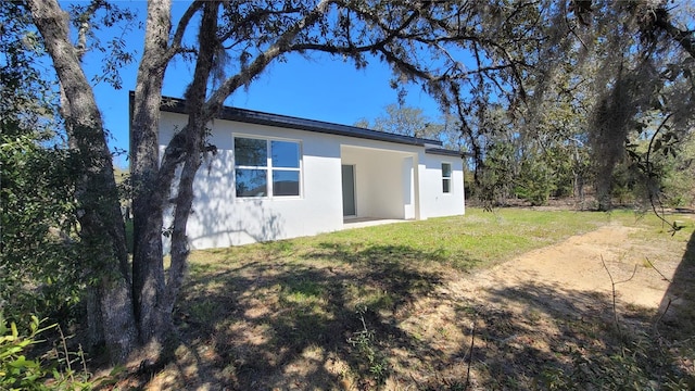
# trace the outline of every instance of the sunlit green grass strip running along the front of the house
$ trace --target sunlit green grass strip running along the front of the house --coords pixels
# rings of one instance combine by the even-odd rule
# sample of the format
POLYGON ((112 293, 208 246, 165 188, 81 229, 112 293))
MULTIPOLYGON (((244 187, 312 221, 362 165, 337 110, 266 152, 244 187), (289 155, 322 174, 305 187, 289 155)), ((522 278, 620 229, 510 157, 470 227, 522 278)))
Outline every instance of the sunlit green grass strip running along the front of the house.
MULTIPOLYGON (((286 262, 307 260, 338 263, 380 261, 443 264, 459 270, 486 267, 553 244, 573 235, 591 231, 611 222, 658 226, 652 215, 629 211, 536 212, 504 209, 484 212, 468 209, 465 216, 431 218, 315 237, 281 240, 223 250, 200 251, 192 263, 216 264, 282 257, 286 262)), ((215 267, 215 266, 210 266, 215 267)))

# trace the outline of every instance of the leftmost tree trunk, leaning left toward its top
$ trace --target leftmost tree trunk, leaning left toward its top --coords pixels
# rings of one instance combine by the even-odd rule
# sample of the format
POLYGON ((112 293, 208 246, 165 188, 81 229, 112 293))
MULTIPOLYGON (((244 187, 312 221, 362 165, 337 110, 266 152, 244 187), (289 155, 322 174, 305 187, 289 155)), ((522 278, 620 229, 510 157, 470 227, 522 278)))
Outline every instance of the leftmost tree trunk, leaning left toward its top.
POLYGON ((137 343, 125 226, 101 113, 68 38, 68 16, 55 0, 26 0, 63 93, 62 112, 78 172, 80 244, 90 283, 92 342, 123 362, 137 343))

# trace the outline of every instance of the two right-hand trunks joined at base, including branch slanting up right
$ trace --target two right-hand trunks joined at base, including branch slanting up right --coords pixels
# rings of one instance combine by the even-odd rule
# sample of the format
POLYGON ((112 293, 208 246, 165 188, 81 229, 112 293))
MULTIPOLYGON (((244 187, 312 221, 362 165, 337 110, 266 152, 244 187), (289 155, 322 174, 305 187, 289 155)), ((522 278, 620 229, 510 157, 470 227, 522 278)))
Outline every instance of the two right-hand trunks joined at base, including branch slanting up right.
POLYGON ((222 108, 225 99, 237 88, 248 85, 275 59, 282 55, 292 39, 306 26, 314 24, 328 8, 327 1, 319 2, 302 21, 286 31, 262 55, 258 55, 241 73, 225 80, 205 101, 205 88, 212 58, 217 50, 224 50, 215 37, 213 26, 219 2, 194 2, 181 21, 190 21, 198 8, 205 5, 205 26, 208 31, 201 31, 199 36, 199 53, 197 64, 197 80, 190 86, 188 98, 188 125, 178 131, 169 141, 161 162, 157 156, 159 110, 161 98, 161 75, 166 63, 176 49, 176 40, 180 39, 182 26, 178 24, 172 47, 166 48, 165 38, 168 36, 169 1, 150 2, 148 8, 148 33, 143 62, 138 73, 138 87, 135 93, 131 164, 135 168, 134 217, 136 229, 134 254, 134 297, 136 299, 136 314, 143 342, 161 340, 172 328, 172 311, 178 290, 184 280, 186 258, 188 256, 188 241, 186 223, 191 210, 193 198, 192 181, 200 167, 205 124, 222 108), (161 5, 160 4, 164 4, 161 5), (214 11, 214 12, 213 12, 214 11), (190 12, 190 13, 189 13, 190 12), (188 20, 186 18, 188 17, 188 20), (214 21, 213 21, 214 20, 214 21), (151 23, 164 24, 166 28, 151 28, 151 23), (213 26, 213 27, 211 27, 213 26), (202 37, 202 38, 201 38, 202 37), (167 55, 169 55, 167 58, 167 55), (150 65, 144 62, 152 61, 150 65), (210 63, 207 63, 210 62, 210 63), (198 67, 200 65, 200 67, 198 67), (154 80, 152 80, 154 78, 154 80), (156 81, 156 83, 155 83, 156 81), (155 85, 156 84, 156 85, 155 85), (156 91, 156 92, 155 92, 156 91), (159 163, 159 165, 157 165, 159 163), (175 169, 182 165, 182 172, 176 184, 174 229, 172 236, 172 267, 166 280, 162 267, 162 215, 166 202, 169 201, 169 190, 175 181, 175 169), (154 174, 155 173, 155 174, 154 174))

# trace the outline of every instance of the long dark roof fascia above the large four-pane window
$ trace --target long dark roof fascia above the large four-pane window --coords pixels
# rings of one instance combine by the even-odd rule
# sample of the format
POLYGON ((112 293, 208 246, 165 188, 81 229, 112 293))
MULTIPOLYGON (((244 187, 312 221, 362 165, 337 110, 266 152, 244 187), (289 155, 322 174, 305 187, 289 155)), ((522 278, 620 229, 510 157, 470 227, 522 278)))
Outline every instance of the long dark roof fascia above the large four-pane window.
MULTIPOLYGON (((162 111, 186 114, 186 101, 178 98, 162 97, 162 111)), ((288 115, 270 114, 247 109, 224 106, 216 116, 218 119, 241 122, 247 124, 279 126, 285 128, 315 131, 328 135, 363 138, 368 140, 396 142, 409 146, 425 147, 425 144, 441 146, 439 140, 388 134, 365 129, 356 126, 332 124, 323 121, 299 118, 288 115)))

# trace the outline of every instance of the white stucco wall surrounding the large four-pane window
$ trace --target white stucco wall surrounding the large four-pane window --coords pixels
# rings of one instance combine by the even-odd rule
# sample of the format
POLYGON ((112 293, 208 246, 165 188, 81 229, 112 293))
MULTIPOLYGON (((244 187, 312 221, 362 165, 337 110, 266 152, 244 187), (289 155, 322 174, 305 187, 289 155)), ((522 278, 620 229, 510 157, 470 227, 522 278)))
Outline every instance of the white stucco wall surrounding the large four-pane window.
MULTIPOLYGON (((165 113, 160 144, 165 146, 185 116, 165 113)), ((188 234, 194 249, 247 244, 342 229, 340 146, 328 135, 267 126, 216 121, 208 156, 195 177, 193 214, 188 234), (300 197, 237 198, 232 139, 256 136, 299 141, 301 144, 300 197)), ((164 147, 162 147, 163 149, 164 147)))

